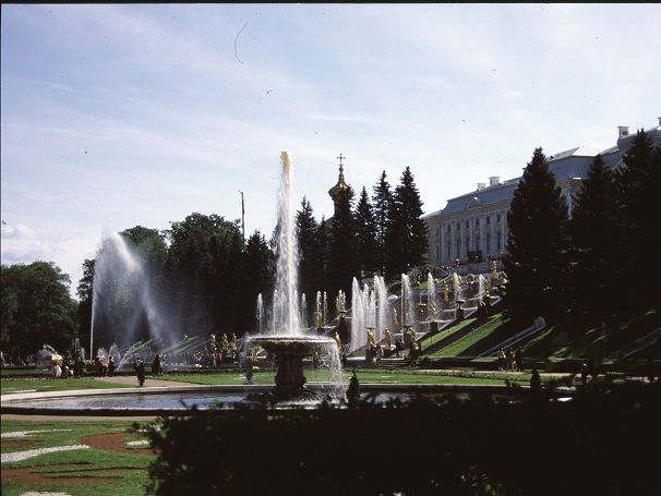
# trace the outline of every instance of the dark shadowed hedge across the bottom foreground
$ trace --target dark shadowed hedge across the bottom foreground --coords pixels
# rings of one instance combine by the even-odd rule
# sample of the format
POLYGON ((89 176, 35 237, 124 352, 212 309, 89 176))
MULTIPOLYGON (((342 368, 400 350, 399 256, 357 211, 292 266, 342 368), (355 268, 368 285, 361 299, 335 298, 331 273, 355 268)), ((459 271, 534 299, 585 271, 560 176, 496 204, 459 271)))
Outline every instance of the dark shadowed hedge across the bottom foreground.
MULTIPOLYGON (((152 493, 659 494, 661 385, 163 420, 152 493), (519 396, 520 397, 520 396, 519 396)), ((520 391, 519 392, 528 392, 520 391)))

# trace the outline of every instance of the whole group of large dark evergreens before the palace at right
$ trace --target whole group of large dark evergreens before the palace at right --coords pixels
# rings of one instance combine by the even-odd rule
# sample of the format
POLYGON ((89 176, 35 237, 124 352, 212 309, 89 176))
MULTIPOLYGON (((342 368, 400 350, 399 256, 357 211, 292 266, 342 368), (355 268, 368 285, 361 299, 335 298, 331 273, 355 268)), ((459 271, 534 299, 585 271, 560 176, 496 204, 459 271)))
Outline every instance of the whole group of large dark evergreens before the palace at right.
POLYGON ((661 311, 656 255, 661 245, 661 148, 638 131, 621 167, 594 157, 567 210, 541 148, 514 192, 504 269, 506 314, 521 322, 608 322, 661 311))

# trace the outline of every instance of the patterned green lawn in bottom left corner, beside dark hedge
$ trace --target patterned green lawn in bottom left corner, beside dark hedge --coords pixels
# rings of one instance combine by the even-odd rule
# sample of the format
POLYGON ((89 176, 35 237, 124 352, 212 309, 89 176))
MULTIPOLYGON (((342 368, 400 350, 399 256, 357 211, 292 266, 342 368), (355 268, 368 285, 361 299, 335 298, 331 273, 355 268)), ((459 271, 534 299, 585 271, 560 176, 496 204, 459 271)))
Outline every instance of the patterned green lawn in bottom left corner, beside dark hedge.
MULTIPOLYGON (((2 452, 83 444, 82 440, 86 436, 122 432, 127 433, 128 438, 146 439, 142 434, 129 434, 131 425, 130 421, 3 420, 2 433, 56 428, 62 432, 37 433, 22 438, 29 439, 28 443, 14 446, 5 438, 2 452)), ((145 422, 143 426, 146 425, 145 422)), ((153 455, 144 452, 115 452, 89 448, 3 463, 2 495, 20 496, 29 491, 67 493, 72 496, 142 495, 145 494, 144 487, 148 482, 147 465, 153 459, 153 455), (39 483, 11 482, 12 469, 15 468, 43 473, 44 480, 39 483)))

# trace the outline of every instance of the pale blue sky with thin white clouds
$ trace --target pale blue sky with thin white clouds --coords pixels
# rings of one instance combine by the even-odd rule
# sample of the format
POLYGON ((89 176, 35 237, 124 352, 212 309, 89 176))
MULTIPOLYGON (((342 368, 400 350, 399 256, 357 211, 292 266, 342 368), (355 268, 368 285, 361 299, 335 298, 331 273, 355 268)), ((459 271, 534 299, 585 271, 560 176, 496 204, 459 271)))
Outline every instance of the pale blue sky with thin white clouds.
POLYGON ((658 125, 661 4, 1 7, 1 261, 82 277, 105 233, 197 211, 271 237, 410 167, 425 214, 536 147, 658 125))

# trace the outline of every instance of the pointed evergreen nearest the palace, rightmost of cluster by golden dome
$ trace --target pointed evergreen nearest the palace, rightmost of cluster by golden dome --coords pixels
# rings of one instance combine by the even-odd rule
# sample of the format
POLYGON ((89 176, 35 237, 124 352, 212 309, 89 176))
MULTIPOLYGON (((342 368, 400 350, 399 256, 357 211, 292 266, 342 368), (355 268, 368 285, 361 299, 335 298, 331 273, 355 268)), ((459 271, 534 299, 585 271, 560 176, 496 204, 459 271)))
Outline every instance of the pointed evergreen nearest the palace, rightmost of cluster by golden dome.
POLYGON ((386 273, 394 277, 421 265, 428 250, 428 231, 422 220, 422 201, 413 174, 407 167, 395 187, 386 231, 386 273))

